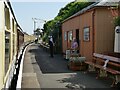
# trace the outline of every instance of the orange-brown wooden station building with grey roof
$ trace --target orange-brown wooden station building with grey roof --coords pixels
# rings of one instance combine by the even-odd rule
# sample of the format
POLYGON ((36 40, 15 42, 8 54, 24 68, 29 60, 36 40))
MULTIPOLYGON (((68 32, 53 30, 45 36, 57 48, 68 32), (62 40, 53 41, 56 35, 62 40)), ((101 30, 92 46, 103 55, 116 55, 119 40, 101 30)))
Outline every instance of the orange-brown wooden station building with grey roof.
POLYGON ((93 53, 113 52, 115 17, 111 7, 114 7, 113 3, 94 3, 64 20, 62 52, 70 49, 73 38, 77 39, 79 53, 87 60, 92 59, 93 53))

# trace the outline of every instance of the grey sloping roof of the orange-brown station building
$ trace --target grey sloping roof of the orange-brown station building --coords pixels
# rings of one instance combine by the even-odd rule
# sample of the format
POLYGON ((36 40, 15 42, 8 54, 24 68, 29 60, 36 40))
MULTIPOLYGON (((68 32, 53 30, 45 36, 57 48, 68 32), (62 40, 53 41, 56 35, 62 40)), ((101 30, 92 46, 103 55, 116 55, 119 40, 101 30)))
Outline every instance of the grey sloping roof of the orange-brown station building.
MULTIPOLYGON (((107 0, 106 0, 106 1, 107 1, 107 0)), ((120 0, 118 0, 118 1, 120 1, 120 0)), ((117 5, 118 5, 118 2, 115 2, 114 0, 113 0, 113 2, 112 2, 112 0, 111 0, 111 2, 105 2, 104 0, 102 0, 101 2, 95 2, 95 3, 91 4, 91 5, 83 8, 82 10, 78 11, 78 12, 75 13, 74 15, 68 17, 68 18, 65 19, 63 22, 65 22, 65 21, 67 21, 67 20, 69 20, 69 19, 71 19, 71 18, 73 18, 73 17, 76 17, 76 16, 78 16, 78 15, 80 15, 80 14, 82 14, 82 13, 84 13, 84 12, 86 12, 86 11, 94 8, 94 7, 108 7, 108 6, 117 6, 117 5)), ((62 23, 63 23, 63 22, 62 22, 62 23)))

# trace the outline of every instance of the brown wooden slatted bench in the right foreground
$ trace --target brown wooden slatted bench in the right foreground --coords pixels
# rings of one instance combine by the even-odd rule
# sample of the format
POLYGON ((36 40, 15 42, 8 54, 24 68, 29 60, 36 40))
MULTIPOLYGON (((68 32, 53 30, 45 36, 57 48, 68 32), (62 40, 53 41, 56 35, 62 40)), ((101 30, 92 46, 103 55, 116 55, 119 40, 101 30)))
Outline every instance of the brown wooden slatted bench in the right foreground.
POLYGON ((85 61, 85 63, 88 64, 89 71, 97 71, 96 78, 113 78, 111 86, 120 82, 120 58, 94 53, 93 59, 91 61, 85 61))

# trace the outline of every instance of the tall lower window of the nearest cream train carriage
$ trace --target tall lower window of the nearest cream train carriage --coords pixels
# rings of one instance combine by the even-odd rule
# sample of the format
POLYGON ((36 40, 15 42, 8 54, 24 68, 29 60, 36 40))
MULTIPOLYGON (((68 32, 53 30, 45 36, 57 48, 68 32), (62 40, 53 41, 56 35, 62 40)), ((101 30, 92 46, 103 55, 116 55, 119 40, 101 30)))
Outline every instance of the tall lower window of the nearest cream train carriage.
POLYGON ((7 73, 9 63, 10 63, 10 33, 5 31, 5 73, 7 73))

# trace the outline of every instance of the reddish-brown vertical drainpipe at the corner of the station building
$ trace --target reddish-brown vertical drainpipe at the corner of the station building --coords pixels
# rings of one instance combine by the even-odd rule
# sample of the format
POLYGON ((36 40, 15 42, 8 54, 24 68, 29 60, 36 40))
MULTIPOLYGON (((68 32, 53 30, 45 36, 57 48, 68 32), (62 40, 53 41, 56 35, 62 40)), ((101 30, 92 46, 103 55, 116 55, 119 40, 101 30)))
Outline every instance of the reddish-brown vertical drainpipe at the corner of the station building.
POLYGON ((92 53, 94 53, 95 52, 95 25, 94 25, 94 23, 95 23, 95 9, 93 10, 93 12, 92 12, 92 29, 93 29, 93 31, 92 31, 92 53))

